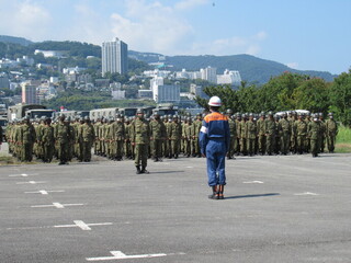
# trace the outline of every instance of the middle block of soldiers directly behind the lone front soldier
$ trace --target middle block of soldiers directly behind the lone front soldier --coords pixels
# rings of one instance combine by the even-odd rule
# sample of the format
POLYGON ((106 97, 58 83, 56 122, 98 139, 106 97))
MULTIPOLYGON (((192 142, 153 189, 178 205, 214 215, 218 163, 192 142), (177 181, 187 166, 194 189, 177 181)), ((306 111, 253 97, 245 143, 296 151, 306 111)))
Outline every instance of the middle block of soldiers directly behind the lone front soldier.
MULTIPOLYGON (((148 156, 155 161, 162 158, 201 157, 199 132, 202 126, 202 115, 193 121, 180 116, 160 116, 158 113, 148 121, 150 135, 148 138, 148 156)), ((123 157, 134 159, 135 137, 134 119, 117 115, 114 118, 98 119, 94 124, 94 153, 121 161, 123 157)))

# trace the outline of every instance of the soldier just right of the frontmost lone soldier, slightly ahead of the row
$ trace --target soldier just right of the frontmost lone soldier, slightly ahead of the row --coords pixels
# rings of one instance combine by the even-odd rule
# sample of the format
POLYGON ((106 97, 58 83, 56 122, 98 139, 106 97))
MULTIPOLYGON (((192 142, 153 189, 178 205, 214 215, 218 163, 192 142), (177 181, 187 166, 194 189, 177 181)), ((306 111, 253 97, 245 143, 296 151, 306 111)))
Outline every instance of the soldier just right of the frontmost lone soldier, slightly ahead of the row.
POLYGON ((166 126, 160 119, 158 113, 154 114, 154 119, 150 122, 150 144, 152 145, 152 158, 154 161, 161 161, 162 158, 162 145, 166 138, 166 126))

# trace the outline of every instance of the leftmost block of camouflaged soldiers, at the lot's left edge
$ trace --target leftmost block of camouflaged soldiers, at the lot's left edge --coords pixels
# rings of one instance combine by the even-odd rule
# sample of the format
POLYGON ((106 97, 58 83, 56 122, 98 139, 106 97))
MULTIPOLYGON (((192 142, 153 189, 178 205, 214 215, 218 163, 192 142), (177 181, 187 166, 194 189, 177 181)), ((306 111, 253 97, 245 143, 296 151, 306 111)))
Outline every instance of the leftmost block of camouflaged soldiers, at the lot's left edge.
POLYGON ((49 117, 31 122, 26 116, 10 123, 5 133, 9 152, 20 161, 32 161, 33 155, 43 162, 50 162, 56 157, 59 164, 66 164, 72 158, 91 160, 94 129, 89 117, 70 123, 61 115, 52 124, 49 117))

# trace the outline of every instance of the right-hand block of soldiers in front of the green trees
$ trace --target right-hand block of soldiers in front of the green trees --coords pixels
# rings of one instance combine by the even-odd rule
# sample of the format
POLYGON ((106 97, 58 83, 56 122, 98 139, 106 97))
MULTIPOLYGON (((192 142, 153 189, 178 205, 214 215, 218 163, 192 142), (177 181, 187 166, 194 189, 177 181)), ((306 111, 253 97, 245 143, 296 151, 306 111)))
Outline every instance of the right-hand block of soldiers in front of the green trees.
POLYGON ((259 118, 250 114, 235 114, 227 111, 230 127, 230 149, 234 155, 287 155, 307 153, 317 157, 327 144, 333 152, 338 126, 333 114, 324 121, 322 114, 283 113, 281 116, 262 112, 259 118))

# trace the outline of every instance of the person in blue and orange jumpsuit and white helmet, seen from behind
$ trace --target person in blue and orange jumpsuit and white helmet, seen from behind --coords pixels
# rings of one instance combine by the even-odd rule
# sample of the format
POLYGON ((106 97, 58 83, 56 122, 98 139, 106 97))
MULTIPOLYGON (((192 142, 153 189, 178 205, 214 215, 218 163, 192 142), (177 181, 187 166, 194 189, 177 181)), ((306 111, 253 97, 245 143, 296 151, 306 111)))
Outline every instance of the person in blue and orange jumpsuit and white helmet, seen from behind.
POLYGON ((218 112, 222 101, 213 96, 208 102, 211 114, 206 115, 200 130, 200 147, 207 160, 208 185, 213 194, 211 199, 224 199, 226 185, 225 160, 230 144, 228 117, 218 112))

